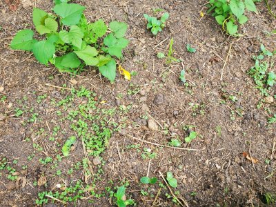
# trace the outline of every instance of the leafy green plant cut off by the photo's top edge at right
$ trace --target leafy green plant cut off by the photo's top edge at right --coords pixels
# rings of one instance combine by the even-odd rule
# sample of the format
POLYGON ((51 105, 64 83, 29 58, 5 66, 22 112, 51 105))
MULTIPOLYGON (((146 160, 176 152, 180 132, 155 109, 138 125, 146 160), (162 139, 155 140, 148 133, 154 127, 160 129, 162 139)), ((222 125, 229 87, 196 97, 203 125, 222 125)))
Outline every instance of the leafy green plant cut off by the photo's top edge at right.
POLYGON ((217 23, 230 35, 237 34, 238 25, 246 23, 246 10, 257 13, 255 0, 210 0, 208 12, 213 12, 217 23))

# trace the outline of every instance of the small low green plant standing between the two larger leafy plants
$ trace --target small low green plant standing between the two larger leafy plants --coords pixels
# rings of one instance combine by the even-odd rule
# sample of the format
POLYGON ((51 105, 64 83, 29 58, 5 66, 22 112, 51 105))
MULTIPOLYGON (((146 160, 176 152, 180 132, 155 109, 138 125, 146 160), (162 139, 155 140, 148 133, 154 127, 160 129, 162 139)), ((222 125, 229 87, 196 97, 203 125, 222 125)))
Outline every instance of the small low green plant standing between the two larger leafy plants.
POLYGON ((144 14, 144 17, 148 21, 147 28, 150 29, 152 34, 156 35, 158 32, 161 32, 162 29, 166 26, 165 23, 168 17, 170 17, 170 14, 166 12, 160 19, 157 19, 156 17, 150 17, 148 16, 148 14, 144 14))

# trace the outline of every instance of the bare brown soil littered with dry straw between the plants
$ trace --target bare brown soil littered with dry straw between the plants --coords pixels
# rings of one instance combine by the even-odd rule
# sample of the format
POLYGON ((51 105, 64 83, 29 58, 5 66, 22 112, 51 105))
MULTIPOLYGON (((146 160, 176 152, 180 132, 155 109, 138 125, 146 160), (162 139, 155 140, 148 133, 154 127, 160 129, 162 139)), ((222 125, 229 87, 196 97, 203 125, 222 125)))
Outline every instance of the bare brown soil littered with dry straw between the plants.
MULTIPOLYGON (((50 12, 51 1, 35 2, 38 8, 50 12)), ((276 130, 275 124, 268 126, 266 123, 267 112, 256 108, 262 96, 254 88, 253 80, 246 75, 246 70, 254 64, 251 57, 257 54, 261 43, 264 43, 269 50, 276 48, 275 36, 266 37, 264 33, 276 28, 276 21, 266 11, 264 3, 258 3, 259 14, 248 14, 248 23, 241 27, 241 31, 246 35, 233 38, 227 37, 209 15, 200 17, 199 12, 206 10, 205 0, 79 2, 86 6, 86 15, 90 21, 103 18, 106 22, 117 19, 128 23, 127 37, 130 39, 130 45, 124 50, 121 64, 127 70, 138 72, 137 76, 132 77, 131 82, 118 75, 115 84, 101 79, 99 75, 95 77, 97 72, 92 70, 74 77, 78 81, 78 87, 86 86, 94 90, 107 100, 109 106, 132 104, 132 109, 127 115, 126 132, 115 133, 106 152, 103 153, 106 164, 103 166, 104 174, 102 181, 97 184, 97 189, 103 190, 108 186, 110 179, 114 182, 114 186, 119 186, 125 179, 130 183, 127 190, 128 197, 135 199, 137 206, 152 206, 155 197, 145 197, 139 193, 141 189, 146 189, 139 184, 139 179, 146 175, 149 160, 142 159, 141 152, 126 149, 130 144, 141 144, 141 150, 150 148, 157 152, 157 157, 150 161, 150 177, 156 176, 161 179, 157 172, 159 167, 173 172, 179 182, 177 190, 188 201, 189 206, 264 206, 260 195, 267 192, 276 193, 275 175, 265 179, 273 172, 276 164, 275 151, 273 153, 276 130), (152 37, 146 30, 146 22, 142 15, 152 14, 152 8, 164 8, 170 13, 164 32, 157 37, 152 37), (157 52, 168 50, 171 37, 175 41, 174 55, 183 59, 186 68, 186 78, 190 83, 188 88, 179 83, 181 63, 166 66, 162 60, 157 59, 157 52), (187 43, 197 48, 195 54, 186 52, 187 43), (224 69, 221 81, 221 68, 230 43, 233 43, 230 60, 224 69), (130 83, 138 86, 140 91, 137 94, 127 95, 128 89, 132 87, 130 83), (226 104, 220 104, 224 99, 221 89, 235 95, 238 101, 233 103, 226 100, 226 104), (116 96, 119 93, 123 94, 124 98, 117 101, 116 96), (154 101, 157 96, 163 96, 158 104, 154 101), (188 104, 190 102, 201 106, 195 116, 188 104), (146 115, 145 110, 148 110, 148 114, 156 119, 163 129, 159 127, 158 131, 152 131, 145 126, 146 121, 140 118, 146 115), (199 110, 204 110, 204 114, 202 115, 199 110), (240 117, 235 113, 235 120, 231 120, 231 110, 242 110, 243 116, 240 117), (194 125, 195 130, 201 135, 188 146, 182 144, 182 147, 200 149, 199 151, 157 148, 126 136, 126 134, 132 135, 147 141, 166 144, 176 133, 181 141, 184 141, 187 132, 181 129, 181 124, 194 125), (221 126, 221 136, 215 130, 217 126, 221 126), (169 131, 168 135, 164 134, 165 130, 169 131), (243 157, 243 152, 250 152, 250 155, 259 162, 253 166, 243 157), (265 159, 270 159, 270 164, 266 164, 265 159), (192 192, 197 194, 191 196, 192 192)), ((71 178, 53 176, 55 171, 39 164, 38 159, 46 157, 42 152, 35 152, 34 159, 28 161, 27 157, 34 152, 34 149, 32 143, 23 141, 39 128, 47 129, 46 121, 50 129, 59 121, 57 117, 46 112, 46 108, 50 110, 50 98, 46 99, 43 105, 37 103, 37 96, 48 93, 50 97, 65 97, 67 92, 46 86, 45 83, 55 86, 66 84, 66 87, 70 88, 72 77, 59 73, 52 66, 48 68, 42 66, 30 56, 29 52, 10 50, 8 45, 12 36, 20 29, 32 27, 32 9, 23 8, 19 4, 16 11, 10 11, 4 1, 0 2, 0 8, 2 27, 0 86, 4 87, 1 95, 7 97, 6 101, 0 103, 0 115, 8 115, 7 119, 0 121, 0 156, 7 157, 11 162, 18 159, 18 163, 12 166, 27 180, 26 186, 20 188, 10 183, 6 179, 6 172, 3 172, 0 177, 0 206, 34 206, 37 193, 49 190, 59 184, 61 179, 63 181, 82 179, 82 172, 71 178), (48 79, 51 76, 54 79, 48 79), (23 100, 24 96, 28 97, 28 101, 23 100), (23 102, 20 103, 19 100, 23 102), (12 103, 11 107, 8 106, 9 103, 12 103), (21 108, 23 104, 34 108, 34 111, 43 118, 42 121, 23 126, 21 122, 28 119, 30 113, 23 114, 19 118, 10 117, 14 114, 14 108, 21 108), (23 165, 28 165, 28 169, 21 170, 23 165), (48 187, 32 186, 42 172, 47 177, 48 187)), ((275 68, 271 70, 275 71, 275 68)), ((275 104, 269 107, 275 113, 275 104)), ((64 130, 69 128, 64 126, 64 130)), ((56 153, 51 148, 48 148, 48 152, 55 157, 56 153)), ((63 161, 59 168, 65 169, 66 166, 79 161, 82 153, 81 146, 77 146, 70 159, 63 161)), ((159 186, 155 186, 151 192, 157 195, 158 190, 159 186)), ((166 198, 165 193, 166 191, 162 190, 156 204, 175 205, 171 199, 166 198)), ((95 204, 88 204, 85 200, 79 200, 75 204, 75 206, 91 205, 115 206, 114 203, 110 205, 109 197, 95 199, 95 204)))

